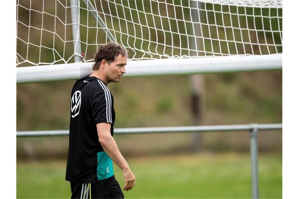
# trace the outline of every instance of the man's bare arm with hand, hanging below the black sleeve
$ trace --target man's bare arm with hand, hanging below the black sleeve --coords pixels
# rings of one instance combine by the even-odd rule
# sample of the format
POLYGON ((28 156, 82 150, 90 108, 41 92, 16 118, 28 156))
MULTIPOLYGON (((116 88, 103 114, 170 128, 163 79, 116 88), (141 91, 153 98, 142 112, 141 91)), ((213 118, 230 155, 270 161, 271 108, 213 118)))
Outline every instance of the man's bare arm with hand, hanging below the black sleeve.
POLYGON ((110 123, 97 124, 99 142, 107 155, 120 167, 120 169, 123 170, 123 178, 125 179, 123 190, 129 191, 135 186, 135 175, 132 173, 125 158, 121 155, 114 138, 111 136, 110 128, 110 123))

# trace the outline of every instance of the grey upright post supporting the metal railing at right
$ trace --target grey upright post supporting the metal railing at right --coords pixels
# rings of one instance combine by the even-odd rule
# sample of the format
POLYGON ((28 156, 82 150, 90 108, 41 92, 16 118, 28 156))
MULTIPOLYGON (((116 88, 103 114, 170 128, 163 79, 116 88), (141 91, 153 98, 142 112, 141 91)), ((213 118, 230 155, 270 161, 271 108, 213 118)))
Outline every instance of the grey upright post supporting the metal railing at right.
POLYGON ((252 198, 259 198, 259 181, 257 165, 257 125, 250 131, 250 155, 251 155, 251 186, 252 198))

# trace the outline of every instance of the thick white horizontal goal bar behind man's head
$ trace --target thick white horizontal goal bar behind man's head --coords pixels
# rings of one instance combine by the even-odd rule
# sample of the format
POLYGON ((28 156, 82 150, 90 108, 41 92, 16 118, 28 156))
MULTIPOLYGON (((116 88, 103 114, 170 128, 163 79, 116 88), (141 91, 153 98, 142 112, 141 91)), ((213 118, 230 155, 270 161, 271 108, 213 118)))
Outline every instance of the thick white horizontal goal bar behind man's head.
MULTIPOLYGON (((90 75, 92 62, 17 68, 17 84, 77 80, 90 75)), ((282 55, 219 56, 128 61, 124 77, 282 70, 282 55), (171 65, 171 67, 169 67, 171 65)))

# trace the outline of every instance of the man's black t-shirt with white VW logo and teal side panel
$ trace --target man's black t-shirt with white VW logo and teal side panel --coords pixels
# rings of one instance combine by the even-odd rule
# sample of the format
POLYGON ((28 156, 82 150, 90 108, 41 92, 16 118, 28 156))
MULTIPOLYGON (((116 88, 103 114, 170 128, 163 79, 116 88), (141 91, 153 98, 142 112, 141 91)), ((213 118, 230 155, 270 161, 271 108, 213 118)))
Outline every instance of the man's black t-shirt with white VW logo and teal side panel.
POLYGON ((115 111, 113 96, 106 84, 96 77, 77 80, 71 92, 71 118, 68 161, 65 180, 95 183, 114 175, 112 160, 97 135, 98 123, 111 123, 115 111))

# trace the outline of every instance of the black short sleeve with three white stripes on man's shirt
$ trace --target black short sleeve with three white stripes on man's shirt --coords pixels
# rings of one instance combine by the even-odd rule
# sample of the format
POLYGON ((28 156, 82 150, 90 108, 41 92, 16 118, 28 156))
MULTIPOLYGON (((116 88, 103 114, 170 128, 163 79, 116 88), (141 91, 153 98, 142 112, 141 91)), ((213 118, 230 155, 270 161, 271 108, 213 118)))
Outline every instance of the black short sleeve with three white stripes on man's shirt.
POLYGON ((91 100, 91 112, 94 124, 112 123, 111 95, 108 90, 99 89, 94 93, 91 100))

